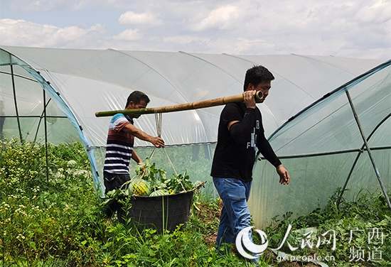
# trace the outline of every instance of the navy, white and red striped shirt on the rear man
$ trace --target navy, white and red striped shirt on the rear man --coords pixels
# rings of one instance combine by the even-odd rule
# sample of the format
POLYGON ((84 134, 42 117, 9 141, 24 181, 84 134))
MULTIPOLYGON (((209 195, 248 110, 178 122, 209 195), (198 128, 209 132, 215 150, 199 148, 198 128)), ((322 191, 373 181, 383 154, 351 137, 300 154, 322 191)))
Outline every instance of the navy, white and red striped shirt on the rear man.
POLYGON ((115 114, 109 125, 107 135, 106 159, 103 170, 107 173, 129 173, 129 163, 132 158, 134 136, 121 131, 133 120, 124 114, 115 114))

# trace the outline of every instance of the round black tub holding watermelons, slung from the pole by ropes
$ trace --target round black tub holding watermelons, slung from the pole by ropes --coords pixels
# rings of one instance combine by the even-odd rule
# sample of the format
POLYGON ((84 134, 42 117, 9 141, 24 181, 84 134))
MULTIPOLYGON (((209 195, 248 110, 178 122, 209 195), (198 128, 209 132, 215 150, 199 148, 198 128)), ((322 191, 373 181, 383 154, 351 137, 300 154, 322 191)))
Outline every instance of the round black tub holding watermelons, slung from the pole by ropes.
POLYGON ((138 228, 157 231, 173 231, 178 225, 186 224, 193 202, 193 191, 155 197, 132 196, 132 207, 118 210, 119 222, 131 218, 130 223, 138 228))

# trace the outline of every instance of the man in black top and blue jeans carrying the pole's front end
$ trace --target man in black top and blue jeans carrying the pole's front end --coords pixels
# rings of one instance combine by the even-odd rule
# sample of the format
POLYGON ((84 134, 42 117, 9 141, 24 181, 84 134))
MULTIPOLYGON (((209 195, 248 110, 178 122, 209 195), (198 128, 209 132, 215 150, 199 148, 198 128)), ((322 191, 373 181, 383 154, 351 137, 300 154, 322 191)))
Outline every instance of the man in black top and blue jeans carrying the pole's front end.
POLYGON ((256 149, 277 170, 279 182, 289 184, 289 173, 277 158, 264 136, 262 115, 256 106, 255 94, 261 91, 262 102, 274 80, 267 68, 254 66, 247 70, 243 93, 244 102, 227 104, 220 115, 218 144, 213 157, 213 183, 223 200, 216 244, 235 244, 240 230, 250 226, 247 205, 252 183, 252 168, 256 149))

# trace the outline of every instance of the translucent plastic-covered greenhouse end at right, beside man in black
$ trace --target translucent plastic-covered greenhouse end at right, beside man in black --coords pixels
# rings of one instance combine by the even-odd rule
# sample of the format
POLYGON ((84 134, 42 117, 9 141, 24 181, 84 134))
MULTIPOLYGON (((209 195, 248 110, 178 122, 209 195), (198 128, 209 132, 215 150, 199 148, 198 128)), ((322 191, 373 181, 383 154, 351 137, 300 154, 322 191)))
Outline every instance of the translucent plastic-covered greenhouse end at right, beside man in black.
MULTIPOLYGON (((323 207, 338 187, 342 188, 346 200, 352 200, 362 190, 390 194, 390 117, 391 61, 296 114, 269 137, 274 151, 291 174, 291 184, 279 185, 274 168, 265 160, 257 163, 254 173, 262 179, 255 177, 252 187, 255 221, 266 226, 282 211, 308 214, 323 207), (358 123, 368 141, 373 162, 358 123), (262 201, 255 197, 258 194, 262 195, 262 201)), ((390 200, 387 201, 390 205, 390 200)))

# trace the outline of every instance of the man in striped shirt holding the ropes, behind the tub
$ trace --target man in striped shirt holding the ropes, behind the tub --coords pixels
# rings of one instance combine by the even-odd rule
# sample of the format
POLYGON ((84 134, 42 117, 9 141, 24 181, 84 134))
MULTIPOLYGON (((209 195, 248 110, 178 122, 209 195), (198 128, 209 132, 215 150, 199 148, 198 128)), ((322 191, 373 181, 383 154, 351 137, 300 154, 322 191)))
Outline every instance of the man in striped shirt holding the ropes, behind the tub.
MULTIPOLYGON (((125 109, 145 109, 149 103, 149 97, 140 91, 134 91, 129 95, 125 109)), ((134 126, 134 119, 140 114, 115 114, 109 124, 107 135, 106 158, 103 168, 105 179, 105 193, 121 187, 124 182, 130 180, 129 163, 132 158, 136 163, 142 164, 142 160, 134 151, 134 137, 152 143, 156 148, 164 147, 164 140, 160 137, 149 136, 134 126)), ((106 210, 108 217, 117 210, 114 202, 106 210)))

